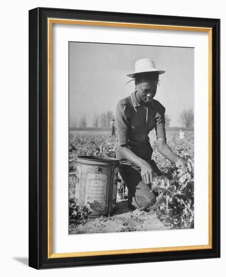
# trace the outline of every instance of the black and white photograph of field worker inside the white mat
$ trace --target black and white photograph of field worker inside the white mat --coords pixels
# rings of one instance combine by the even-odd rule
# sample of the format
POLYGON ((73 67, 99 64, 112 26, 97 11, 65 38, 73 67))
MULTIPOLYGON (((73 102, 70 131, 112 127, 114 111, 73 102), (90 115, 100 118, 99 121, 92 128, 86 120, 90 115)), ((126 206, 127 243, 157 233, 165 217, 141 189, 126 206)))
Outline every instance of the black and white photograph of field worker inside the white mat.
POLYGON ((69 234, 193 229, 194 48, 69 42, 69 234))

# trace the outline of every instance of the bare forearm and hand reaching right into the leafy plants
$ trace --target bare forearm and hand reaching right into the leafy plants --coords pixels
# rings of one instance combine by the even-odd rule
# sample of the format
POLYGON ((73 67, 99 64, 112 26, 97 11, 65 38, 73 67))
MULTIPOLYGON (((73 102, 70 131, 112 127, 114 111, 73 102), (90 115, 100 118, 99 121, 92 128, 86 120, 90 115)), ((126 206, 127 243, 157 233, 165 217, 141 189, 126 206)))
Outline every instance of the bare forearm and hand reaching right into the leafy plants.
POLYGON ((165 138, 158 137, 158 150, 159 152, 168 160, 170 160, 172 163, 176 164, 176 166, 182 166, 184 170, 192 171, 191 163, 186 161, 183 158, 180 158, 177 156, 171 148, 167 145, 165 138))

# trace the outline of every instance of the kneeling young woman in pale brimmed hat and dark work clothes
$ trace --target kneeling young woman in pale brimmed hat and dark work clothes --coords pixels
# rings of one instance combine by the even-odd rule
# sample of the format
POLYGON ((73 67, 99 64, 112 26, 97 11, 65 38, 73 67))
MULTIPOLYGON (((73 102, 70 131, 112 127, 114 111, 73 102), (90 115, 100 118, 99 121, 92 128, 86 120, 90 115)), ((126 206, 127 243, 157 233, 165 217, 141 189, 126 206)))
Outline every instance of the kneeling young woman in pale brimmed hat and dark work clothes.
POLYGON ((149 58, 137 60, 135 72, 127 74, 135 81, 135 91, 117 104, 116 157, 120 158, 120 175, 128 188, 130 209, 144 210, 155 202, 155 194, 150 192, 149 184, 155 173, 161 173, 151 160, 153 150, 148 133, 153 128, 160 153, 178 167, 192 169, 191 163, 178 157, 166 143, 165 108, 154 99, 158 76, 163 73, 149 58))

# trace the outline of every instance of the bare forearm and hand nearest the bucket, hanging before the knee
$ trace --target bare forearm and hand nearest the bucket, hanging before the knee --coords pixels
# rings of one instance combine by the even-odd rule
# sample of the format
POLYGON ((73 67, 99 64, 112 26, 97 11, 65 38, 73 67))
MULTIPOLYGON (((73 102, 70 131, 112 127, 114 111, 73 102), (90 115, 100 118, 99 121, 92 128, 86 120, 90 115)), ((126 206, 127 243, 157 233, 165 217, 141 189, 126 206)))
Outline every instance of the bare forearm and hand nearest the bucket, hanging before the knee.
POLYGON ((149 184, 152 181, 152 177, 154 174, 154 171, 151 165, 145 160, 138 157, 136 154, 134 154, 127 146, 118 146, 118 147, 119 147, 119 151, 122 153, 125 159, 135 164, 136 166, 140 167, 142 180, 144 181, 145 184, 149 184))

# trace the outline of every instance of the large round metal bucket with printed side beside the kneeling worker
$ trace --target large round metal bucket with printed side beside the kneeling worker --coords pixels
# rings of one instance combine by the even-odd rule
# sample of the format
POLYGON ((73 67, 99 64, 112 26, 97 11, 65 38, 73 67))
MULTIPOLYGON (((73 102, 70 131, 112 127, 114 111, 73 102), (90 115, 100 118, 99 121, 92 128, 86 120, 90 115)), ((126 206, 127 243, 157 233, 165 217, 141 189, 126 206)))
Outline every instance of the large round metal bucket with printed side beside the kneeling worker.
POLYGON ((78 156, 76 160, 76 204, 82 206, 88 204, 93 217, 114 213, 118 170, 118 159, 78 156))

